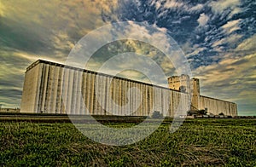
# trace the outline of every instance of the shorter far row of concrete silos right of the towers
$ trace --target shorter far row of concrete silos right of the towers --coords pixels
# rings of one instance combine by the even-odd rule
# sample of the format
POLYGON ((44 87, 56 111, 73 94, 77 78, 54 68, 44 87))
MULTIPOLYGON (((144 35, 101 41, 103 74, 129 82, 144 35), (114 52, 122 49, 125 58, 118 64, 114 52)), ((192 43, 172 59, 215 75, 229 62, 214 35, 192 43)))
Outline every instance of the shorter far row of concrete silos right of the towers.
POLYGON ((199 109, 207 108, 207 112, 218 115, 223 112, 224 115, 237 116, 236 103, 230 101, 221 101, 207 96, 200 95, 199 109))

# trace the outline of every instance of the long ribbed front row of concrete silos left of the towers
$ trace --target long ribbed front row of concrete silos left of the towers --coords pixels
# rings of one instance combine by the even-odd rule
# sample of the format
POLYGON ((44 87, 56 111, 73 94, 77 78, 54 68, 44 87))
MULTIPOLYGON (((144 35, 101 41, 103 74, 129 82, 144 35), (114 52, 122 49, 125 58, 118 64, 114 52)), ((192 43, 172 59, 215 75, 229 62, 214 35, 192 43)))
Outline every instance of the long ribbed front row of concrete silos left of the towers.
POLYGON ((173 117, 189 110, 189 95, 176 90, 56 63, 37 66, 29 69, 40 76, 34 112, 173 117))

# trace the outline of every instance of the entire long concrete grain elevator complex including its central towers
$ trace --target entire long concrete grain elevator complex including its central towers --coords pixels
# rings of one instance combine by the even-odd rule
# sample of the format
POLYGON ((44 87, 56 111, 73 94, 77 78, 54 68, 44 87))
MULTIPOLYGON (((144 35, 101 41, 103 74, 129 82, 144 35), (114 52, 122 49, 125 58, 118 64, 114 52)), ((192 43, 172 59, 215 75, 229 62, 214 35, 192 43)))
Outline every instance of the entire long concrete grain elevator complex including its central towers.
POLYGON ((200 95, 197 78, 174 76, 168 83, 165 88, 37 60, 26 69, 20 112, 150 116, 157 111, 173 117, 178 110, 207 108, 215 115, 237 115, 236 103, 200 95))

